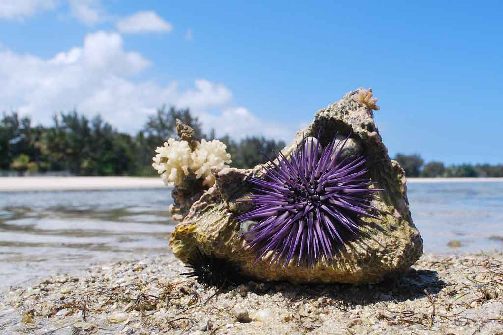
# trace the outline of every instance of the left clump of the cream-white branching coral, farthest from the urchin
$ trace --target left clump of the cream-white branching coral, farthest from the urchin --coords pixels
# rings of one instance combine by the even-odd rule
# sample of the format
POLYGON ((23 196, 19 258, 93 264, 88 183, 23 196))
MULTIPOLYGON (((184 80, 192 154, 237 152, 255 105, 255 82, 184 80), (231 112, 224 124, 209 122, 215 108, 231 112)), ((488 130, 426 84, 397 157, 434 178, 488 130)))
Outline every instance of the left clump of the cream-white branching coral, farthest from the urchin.
POLYGON ((192 164, 189 143, 169 139, 162 147, 157 147, 155 152, 157 155, 152 158, 152 167, 160 174, 164 184, 179 185, 184 174, 189 174, 189 166, 192 164))

